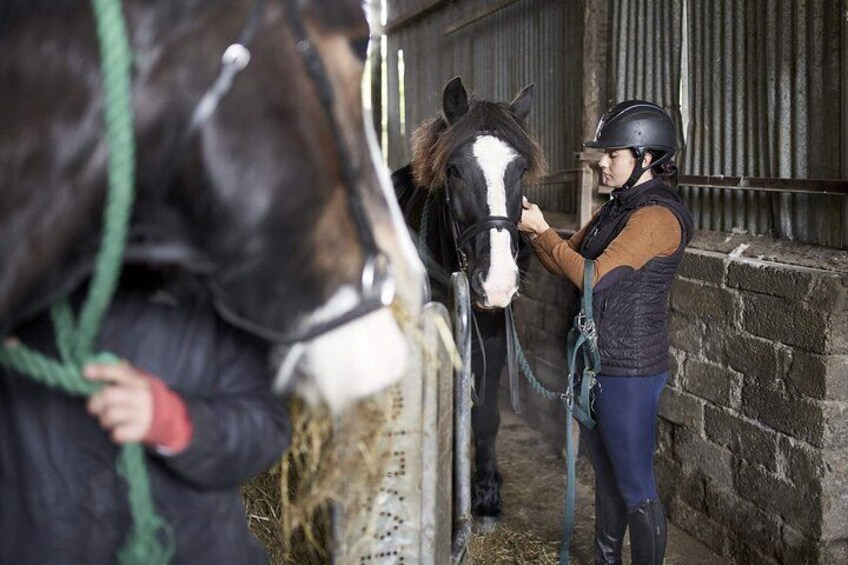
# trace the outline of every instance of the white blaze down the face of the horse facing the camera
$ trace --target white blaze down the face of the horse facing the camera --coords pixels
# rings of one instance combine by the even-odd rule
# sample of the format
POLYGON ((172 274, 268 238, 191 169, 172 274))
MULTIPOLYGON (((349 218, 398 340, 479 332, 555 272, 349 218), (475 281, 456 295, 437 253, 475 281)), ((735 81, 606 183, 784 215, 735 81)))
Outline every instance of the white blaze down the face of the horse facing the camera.
MULTIPOLYGON (((474 156, 486 178, 489 215, 507 216, 504 174, 517 154, 512 147, 497 137, 485 135, 478 137, 474 142, 474 156)), ((489 272, 483 279, 485 306, 505 308, 518 291, 518 265, 512 256, 509 232, 489 230, 489 244, 489 272)))

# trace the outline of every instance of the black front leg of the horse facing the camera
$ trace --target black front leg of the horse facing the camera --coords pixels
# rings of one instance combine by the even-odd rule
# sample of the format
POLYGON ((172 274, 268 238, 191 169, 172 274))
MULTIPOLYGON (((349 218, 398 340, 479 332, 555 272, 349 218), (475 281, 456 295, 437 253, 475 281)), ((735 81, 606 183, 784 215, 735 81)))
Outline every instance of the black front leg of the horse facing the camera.
MULTIPOLYGON (((481 316, 478 315, 478 319, 481 316)), ((479 320, 483 322, 483 320, 479 320)), ((471 369, 477 391, 477 404, 471 411, 474 430, 474 476, 471 484, 471 504, 476 529, 489 532, 501 519, 501 474, 498 472, 495 440, 500 425, 498 390, 506 362, 503 331, 480 324, 483 342, 472 338, 471 369), (480 346, 483 347, 480 347, 480 346), (485 374, 483 353, 485 351, 485 374), (481 404, 482 401, 482 404, 481 404)))

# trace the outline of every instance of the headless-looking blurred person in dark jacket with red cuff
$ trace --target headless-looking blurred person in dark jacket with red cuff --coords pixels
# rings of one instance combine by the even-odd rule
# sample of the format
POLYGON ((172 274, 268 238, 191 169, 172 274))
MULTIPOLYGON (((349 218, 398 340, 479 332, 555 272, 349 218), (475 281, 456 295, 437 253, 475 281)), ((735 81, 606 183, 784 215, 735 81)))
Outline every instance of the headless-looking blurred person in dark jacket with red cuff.
MULTIPOLYGON (((290 439, 268 344, 224 323, 202 290, 156 279, 124 275, 97 350, 125 361, 86 367, 106 385, 87 401, 0 369, 0 564, 114 563, 131 526, 115 456, 130 441, 148 447, 174 563, 267 561, 239 485, 290 439)), ((14 336, 57 356, 46 314, 14 336)))

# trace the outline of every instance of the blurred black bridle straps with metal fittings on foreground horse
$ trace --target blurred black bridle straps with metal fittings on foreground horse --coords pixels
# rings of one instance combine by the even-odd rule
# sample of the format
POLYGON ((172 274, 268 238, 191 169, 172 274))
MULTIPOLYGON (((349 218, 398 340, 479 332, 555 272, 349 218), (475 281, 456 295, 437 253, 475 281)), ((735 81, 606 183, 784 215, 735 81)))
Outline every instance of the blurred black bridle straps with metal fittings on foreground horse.
MULTIPOLYGON (((235 77, 250 62, 250 44, 259 27, 259 20, 264 11, 265 3, 266 0, 255 1, 239 34, 238 42, 230 45, 224 52, 218 78, 195 107, 188 135, 193 137, 209 119, 221 99, 230 91, 235 77)), ((286 15, 285 20, 288 23, 289 31, 295 40, 296 51, 315 87, 315 92, 330 127, 331 138, 335 140, 336 156, 341 164, 342 184, 348 196, 348 207, 365 252, 365 264, 360 277, 360 301, 354 308, 337 317, 316 322, 290 333, 280 333, 260 326, 232 312, 221 304, 220 300, 216 302, 219 309, 226 313, 226 317, 242 328, 276 342, 294 344, 314 339, 380 308, 389 306, 394 301, 396 288, 389 258, 380 250, 374 240, 372 226, 363 206, 362 195, 356 187, 354 161, 344 145, 341 128, 333 113, 335 91, 324 67, 324 62, 309 37, 297 0, 280 0, 280 3, 286 15)))

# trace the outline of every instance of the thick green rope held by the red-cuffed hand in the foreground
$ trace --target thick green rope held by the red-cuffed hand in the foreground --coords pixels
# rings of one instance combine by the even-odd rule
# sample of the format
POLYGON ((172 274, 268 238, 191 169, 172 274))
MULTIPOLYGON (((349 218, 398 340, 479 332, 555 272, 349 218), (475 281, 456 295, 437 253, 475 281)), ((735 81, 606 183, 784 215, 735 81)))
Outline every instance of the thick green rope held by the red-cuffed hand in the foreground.
MULTIPOLYGON (((92 6, 103 69, 109 191, 91 285, 78 322, 67 301, 51 310, 62 363, 17 343, 7 343, 0 349, 0 364, 46 386, 84 397, 97 392, 101 385, 86 380, 82 367, 92 361, 117 361, 109 354, 94 355, 93 350, 120 278, 135 192, 131 51, 124 16, 119 0, 92 0, 92 6)), ((144 448, 137 443, 121 446, 116 461, 118 475, 127 483, 133 518, 130 534, 118 551, 122 565, 166 564, 174 554, 173 531, 156 513, 145 461, 144 448)))

